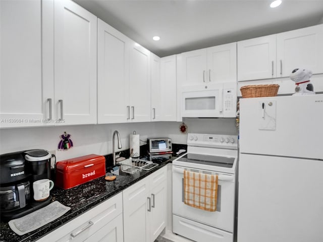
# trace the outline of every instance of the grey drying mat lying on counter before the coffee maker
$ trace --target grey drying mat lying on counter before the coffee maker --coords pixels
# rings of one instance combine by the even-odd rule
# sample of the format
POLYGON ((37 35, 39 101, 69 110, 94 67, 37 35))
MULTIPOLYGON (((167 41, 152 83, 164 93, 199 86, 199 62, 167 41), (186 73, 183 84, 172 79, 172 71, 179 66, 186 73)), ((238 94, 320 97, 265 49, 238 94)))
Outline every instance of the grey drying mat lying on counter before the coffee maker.
POLYGON ((10 220, 9 226, 18 235, 23 235, 61 217, 70 209, 70 207, 66 207, 60 202, 54 201, 21 218, 10 220))

